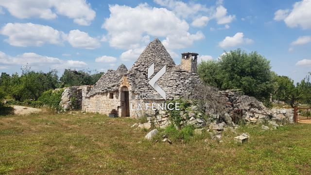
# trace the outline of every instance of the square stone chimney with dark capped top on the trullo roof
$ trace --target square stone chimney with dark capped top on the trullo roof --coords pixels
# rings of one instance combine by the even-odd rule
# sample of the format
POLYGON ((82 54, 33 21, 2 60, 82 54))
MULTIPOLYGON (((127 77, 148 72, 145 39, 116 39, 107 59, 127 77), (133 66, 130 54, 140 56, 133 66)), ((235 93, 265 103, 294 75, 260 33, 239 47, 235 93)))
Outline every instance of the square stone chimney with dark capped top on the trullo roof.
POLYGON ((181 53, 180 67, 182 70, 196 73, 198 53, 181 53))

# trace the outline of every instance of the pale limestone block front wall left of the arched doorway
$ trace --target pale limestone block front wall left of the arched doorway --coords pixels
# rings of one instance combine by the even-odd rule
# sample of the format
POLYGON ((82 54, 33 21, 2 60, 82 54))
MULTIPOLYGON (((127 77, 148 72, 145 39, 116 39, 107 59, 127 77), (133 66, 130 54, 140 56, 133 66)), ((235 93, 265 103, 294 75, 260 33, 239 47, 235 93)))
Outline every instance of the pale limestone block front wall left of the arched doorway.
MULTIPOLYGON (((120 94, 118 91, 98 93, 91 97, 84 97, 82 110, 86 112, 98 112, 100 114, 108 115, 112 109, 119 110, 121 106, 120 94), (110 98, 110 93, 113 94, 113 98, 110 98)), ((121 113, 119 112, 119 115, 121 113)))

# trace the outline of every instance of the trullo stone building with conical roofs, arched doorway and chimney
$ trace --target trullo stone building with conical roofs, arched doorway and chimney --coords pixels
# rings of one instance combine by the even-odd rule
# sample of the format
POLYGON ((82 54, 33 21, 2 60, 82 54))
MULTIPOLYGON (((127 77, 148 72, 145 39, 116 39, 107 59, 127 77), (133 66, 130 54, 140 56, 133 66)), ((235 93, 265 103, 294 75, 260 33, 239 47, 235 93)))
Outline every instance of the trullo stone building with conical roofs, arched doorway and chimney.
MULTIPOLYGON (((197 53, 182 53, 181 65, 176 65, 160 40, 155 39, 140 54, 130 70, 121 64, 117 70, 108 70, 98 82, 83 95, 82 110, 109 114, 113 109, 119 116, 137 117, 144 113, 147 103, 187 97, 194 85, 201 84, 196 74, 197 53), (154 65, 154 71, 148 68, 154 65), (148 82, 164 67, 165 73, 155 81, 166 94, 161 96, 148 82), (143 110, 139 109, 143 106, 143 110)), ((148 104, 147 104, 148 105, 148 104)))

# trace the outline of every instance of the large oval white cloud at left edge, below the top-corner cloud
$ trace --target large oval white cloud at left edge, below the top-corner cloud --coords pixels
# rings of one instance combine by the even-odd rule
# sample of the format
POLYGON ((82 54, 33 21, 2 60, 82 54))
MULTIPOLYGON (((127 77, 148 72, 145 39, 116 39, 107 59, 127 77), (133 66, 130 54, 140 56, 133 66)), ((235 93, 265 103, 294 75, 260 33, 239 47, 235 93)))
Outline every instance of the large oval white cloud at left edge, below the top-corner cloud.
POLYGON ((33 23, 7 23, 0 34, 9 38, 5 39, 12 46, 42 46, 45 43, 60 44, 63 32, 59 32, 50 26, 33 23))

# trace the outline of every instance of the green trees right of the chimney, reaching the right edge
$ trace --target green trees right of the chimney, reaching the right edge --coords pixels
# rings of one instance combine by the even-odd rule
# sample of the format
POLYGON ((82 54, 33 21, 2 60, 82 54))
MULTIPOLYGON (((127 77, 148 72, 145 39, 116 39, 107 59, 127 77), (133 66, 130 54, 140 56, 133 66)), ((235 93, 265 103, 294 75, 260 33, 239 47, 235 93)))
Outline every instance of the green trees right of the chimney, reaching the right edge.
POLYGON ((271 70, 270 61, 257 52, 246 53, 241 49, 226 52, 217 61, 203 61, 198 65, 202 81, 219 89, 241 89, 265 105, 273 100, 292 106, 311 105, 311 72, 300 82, 288 76, 277 75, 271 70))

